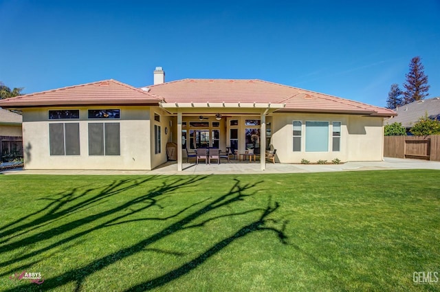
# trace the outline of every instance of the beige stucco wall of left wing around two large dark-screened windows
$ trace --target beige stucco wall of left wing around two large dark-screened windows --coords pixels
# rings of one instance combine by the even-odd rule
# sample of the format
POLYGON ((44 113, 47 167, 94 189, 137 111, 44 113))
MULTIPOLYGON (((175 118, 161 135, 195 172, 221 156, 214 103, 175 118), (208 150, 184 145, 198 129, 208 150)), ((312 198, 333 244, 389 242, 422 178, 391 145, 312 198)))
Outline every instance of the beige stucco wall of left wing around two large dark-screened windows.
MULTIPOLYGON (((79 121, 48 120, 48 108, 23 110, 25 169, 150 170, 157 163, 156 161, 152 162, 151 159, 151 109, 149 106, 87 106, 63 109, 79 109, 79 121), (89 120, 87 118, 88 109, 120 109, 120 119, 89 120), (79 122, 80 155, 50 155, 49 124, 60 122, 79 122), (121 155, 89 156, 89 122, 120 123, 121 155)), ((165 146, 163 148, 165 149, 165 146)))

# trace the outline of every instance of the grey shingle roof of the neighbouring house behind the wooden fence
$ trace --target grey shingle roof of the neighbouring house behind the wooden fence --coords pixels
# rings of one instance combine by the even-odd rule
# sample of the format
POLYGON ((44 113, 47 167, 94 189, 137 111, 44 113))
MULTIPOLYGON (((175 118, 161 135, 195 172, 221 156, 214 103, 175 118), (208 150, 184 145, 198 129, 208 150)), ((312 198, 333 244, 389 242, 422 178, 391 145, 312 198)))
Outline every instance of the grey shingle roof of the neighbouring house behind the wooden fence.
POLYGON ((399 106, 396 109, 397 117, 385 121, 385 124, 401 123, 405 128, 410 128, 417 123, 421 117, 428 117, 432 120, 440 120, 440 97, 428 100, 417 100, 410 104, 399 106))

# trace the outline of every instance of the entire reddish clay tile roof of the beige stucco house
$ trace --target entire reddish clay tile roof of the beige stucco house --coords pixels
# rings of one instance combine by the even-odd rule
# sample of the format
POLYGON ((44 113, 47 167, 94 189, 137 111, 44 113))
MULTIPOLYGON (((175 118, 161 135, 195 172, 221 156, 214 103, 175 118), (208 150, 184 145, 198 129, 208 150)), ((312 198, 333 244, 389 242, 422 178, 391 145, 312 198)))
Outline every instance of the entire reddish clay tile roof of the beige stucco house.
POLYGON ((380 106, 346 100, 323 93, 263 80, 183 79, 137 89, 116 80, 104 80, 0 100, 0 106, 75 106, 103 104, 168 104, 225 102, 273 104, 278 112, 353 113, 391 117, 395 112, 380 106))

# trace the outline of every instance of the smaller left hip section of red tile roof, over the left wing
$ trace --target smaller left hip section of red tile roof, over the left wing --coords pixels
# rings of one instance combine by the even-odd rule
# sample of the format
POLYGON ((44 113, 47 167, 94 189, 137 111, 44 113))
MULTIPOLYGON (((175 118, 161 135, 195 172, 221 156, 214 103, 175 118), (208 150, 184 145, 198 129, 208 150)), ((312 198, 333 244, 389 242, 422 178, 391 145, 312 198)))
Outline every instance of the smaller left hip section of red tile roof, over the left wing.
POLYGON ((103 80, 0 100, 0 106, 20 108, 92 104, 129 105, 158 104, 159 101, 159 98, 151 96, 146 90, 137 89, 116 80, 103 80))

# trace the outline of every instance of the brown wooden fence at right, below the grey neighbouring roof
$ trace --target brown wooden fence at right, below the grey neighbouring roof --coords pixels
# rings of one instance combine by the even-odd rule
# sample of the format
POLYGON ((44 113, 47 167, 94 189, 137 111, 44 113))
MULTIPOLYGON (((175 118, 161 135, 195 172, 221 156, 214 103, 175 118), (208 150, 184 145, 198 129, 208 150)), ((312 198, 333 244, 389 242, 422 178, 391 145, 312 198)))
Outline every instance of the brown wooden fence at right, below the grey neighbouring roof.
POLYGON ((440 135, 385 136, 384 156, 440 161, 440 135))

